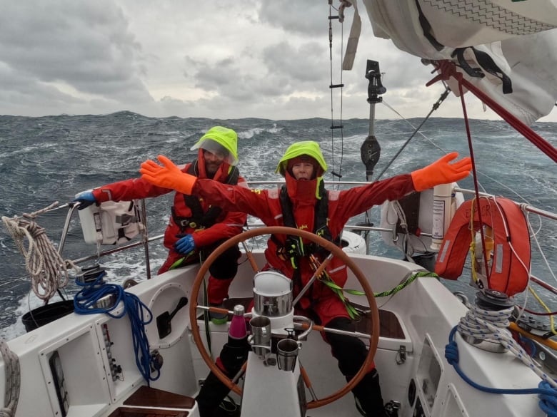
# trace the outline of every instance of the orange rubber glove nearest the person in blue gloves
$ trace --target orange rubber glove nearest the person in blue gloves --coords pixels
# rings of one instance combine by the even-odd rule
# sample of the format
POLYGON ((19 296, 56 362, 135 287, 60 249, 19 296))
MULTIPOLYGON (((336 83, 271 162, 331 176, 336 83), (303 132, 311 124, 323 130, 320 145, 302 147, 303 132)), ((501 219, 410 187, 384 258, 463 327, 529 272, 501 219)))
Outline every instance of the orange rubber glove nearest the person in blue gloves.
POLYGON ((197 177, 182 173, 180 168, 174 165, 166 156, 159 155, 158 159, 164 166, 161 167, 161 165, 150 159, 141 164, 141 169, 139 170, 141 178, 151 182, 153 185, 159 185, 159 187, 171 188, 184 194, 191 194, 197 177))

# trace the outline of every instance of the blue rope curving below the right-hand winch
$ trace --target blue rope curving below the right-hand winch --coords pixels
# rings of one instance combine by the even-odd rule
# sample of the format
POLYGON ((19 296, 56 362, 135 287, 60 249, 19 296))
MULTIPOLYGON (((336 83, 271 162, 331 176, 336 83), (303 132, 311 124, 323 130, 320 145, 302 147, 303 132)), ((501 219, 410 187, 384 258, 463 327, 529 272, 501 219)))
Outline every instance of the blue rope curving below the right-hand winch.
POLYGON ((457 326, 451 329, 451 333, 448 335, 448 345, 445 346, 445 357, 449 364, 451 364, 458 375, 466 381, 469 385, 474 388, 488 392, 488 393, 498 393, 498 394, 538 394, 540 398, 540 408, 548 417, 557 417, 557 389, 553 388, 547 381, 541 381, 538 384, 539 388, 524 388, 524 389, 502 389, 502 388, 491 388, 488 386, 480 385, 466 376, 463 373, 460 366, 458 366, 458 345, 454 341, 454 335, 456 334, 457 326))

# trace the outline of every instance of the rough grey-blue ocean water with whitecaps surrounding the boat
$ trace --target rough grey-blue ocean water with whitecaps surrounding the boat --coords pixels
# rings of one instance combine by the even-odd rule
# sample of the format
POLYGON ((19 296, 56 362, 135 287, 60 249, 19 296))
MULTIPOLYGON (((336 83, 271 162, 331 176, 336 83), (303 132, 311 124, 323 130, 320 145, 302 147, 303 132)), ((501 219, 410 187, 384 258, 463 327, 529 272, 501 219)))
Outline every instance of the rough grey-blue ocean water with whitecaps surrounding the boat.
MULTIPOLYGON (((378 120, 375 135, 381 144, 376 175, 386 168, 421 120, 378 120)), ((365 169, 360 145, 368 135, 368 120, 343 120, 341 136, 331 130, 331 120, 266 120, 245 118, 214 120, 206 118, 146 118, 129 112, 110 115, 59 115, 26 118, 0 115, 0 215, 13 217, 40 210, 51 203, 69 202, 74 195, 92 187, 139 176, 141 162, 156 155, 169 156, 176 163, 195 158, 189 150, 214 125, 233 128, 239 134, 239 168, 247 180, 279 180, 274 173, 284 150, 297 140, 317 140, 329 164, 328 187, 342 180, 363 181, 365 169)), ((432 118, 394 160, 383 177, 407 173, 439 158, 443 151, 468 154, 468 143, 461 119, 432 118)), ((557 123, 536 123, 533 128, 553 146, 557 145, 557 123)), ((481 190, 511 197, 513 200, 557 212, 557 165, 506 123, 471 120, 474 155, 481 190)), ((459 182, 473 188, 471 178, 459 182)), ((172 193, 147 201, 150 235, 164 232, 172 193)), ((66 220, 66 209, 39 216, 36 222, 58 244, 66 220)), ((354 223, 361 219, 355 219, 354 223)), ((557 264, 557 222, 530 216, 533 239, 533 274, 557 287, 551 267, 557 264), (539 247, 537 244, 539 244, 539 247), (546 263, 549 265, 546 266, 546 263)), ((379 224, 379 208, 371 211, 371 221, 379 224)), ((371 251, 398 256, 381 237, 371 235, 371 251)), ((161 241, 150 244, 154 273, 166 257, 161 241)), ((96 247, 85 244, 78 216, 71 218, 64 259, 94 254, 96 247)), ((127 277, 145 279, 141 249, 117 253, 101 259, 109 270, 109 280, 127 277)), ((447 282, 448 287, 473 294, 468 279, 447 282)), ((23 334, 21 316, 42 302, 32 294, 25 259, 4 227, 0 230, 0 337, 11 339, 23 334)), ((67 294, 76 292, 70 282, 67 294)), ((536 291, 538 288, 536 288, 536 291)), ((541 290, 540 290, 541 292, 541 290)), ((543 293, 548 305, 557 309, 556 297, 543 293)), ((57 301, 58 296, 52 300, 57 301)), ((538 309, 538 311, 541 311, 538 309)))

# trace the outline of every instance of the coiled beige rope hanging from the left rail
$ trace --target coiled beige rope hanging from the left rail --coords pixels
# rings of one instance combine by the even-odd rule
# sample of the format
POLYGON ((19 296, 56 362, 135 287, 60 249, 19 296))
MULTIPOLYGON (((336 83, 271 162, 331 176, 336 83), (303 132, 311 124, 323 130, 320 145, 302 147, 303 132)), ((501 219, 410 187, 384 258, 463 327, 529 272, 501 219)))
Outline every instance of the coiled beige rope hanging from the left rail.
POLYGON ((69 281, 66 265, 77 269, 71 261, 64 261, 49 237, 46 236, 44 227, 35 222, 38 215, 58 205, 54 202, 44 209, 24 213, 19 216, 2 216, 6 230, 14 239, 19 252, 25 257, 25 269, 31 277, 31 289, 39 299, 48 301, 58 289, 66 287, 69 281), (25 247, 24 239, 27 238, 29 246, 25 247))

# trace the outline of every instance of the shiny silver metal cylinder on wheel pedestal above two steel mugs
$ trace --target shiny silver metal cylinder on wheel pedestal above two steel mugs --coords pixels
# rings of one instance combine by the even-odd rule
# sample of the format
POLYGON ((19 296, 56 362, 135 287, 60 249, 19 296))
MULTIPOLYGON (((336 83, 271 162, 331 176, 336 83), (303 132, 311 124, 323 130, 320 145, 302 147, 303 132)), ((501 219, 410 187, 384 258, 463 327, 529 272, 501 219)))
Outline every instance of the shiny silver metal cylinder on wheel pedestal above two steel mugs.
POLYGON ((254 310, 259 316, 278 317, 292 311, 292 280, 275 271, 254 277, 254 310))

